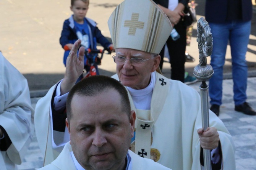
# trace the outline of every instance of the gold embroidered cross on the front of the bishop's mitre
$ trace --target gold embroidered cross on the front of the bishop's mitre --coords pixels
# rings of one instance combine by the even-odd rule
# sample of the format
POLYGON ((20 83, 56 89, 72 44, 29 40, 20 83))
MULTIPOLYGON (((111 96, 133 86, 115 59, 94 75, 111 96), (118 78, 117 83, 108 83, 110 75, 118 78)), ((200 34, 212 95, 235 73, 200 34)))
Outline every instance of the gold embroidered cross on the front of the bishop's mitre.
POLYGON ((131 20, 125 20, 124 27, 129 27, 128 35, 135 35, 136 29, 143 29, 144 22, 139 21, 139 13, 132 13, 131 20))

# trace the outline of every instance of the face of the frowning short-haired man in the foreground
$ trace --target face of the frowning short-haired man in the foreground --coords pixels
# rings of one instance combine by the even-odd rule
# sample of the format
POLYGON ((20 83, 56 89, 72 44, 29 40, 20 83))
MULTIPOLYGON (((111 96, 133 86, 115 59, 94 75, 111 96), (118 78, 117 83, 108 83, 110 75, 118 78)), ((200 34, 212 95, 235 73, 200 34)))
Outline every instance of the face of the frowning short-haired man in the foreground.
POLYGON ((117 91, 96 96, 75 95, 71 109, 72 118, 67 126, 79 164, 86 170, 124 168, 133 127, 128 113, 122 110, 117 91))

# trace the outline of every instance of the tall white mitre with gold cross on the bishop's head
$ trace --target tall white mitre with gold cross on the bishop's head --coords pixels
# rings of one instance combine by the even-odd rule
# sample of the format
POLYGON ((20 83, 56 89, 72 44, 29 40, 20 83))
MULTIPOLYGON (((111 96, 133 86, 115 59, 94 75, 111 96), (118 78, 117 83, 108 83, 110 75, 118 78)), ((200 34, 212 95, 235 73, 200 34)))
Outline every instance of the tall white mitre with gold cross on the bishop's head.
POLYGON ((115 48, 159 54, 172 25, 152 0, 125 0, 111 14, 109 30, 115 48))

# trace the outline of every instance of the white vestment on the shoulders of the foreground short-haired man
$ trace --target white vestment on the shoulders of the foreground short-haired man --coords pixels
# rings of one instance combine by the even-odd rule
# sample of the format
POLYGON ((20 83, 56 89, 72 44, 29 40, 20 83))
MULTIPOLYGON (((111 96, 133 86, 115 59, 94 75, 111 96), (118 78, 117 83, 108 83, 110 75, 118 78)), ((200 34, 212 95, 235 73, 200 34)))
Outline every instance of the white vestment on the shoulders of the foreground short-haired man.
MULTIPOLYGON (((57 159, 55 159, 51 164, 40 168, 39 170, 76 170, 76 166, 73 162, 70 152, 72 152, 72 148, 68 142, 65 144, 57 159)), ((130 150, 128 153, 131 157, 129 170, 170 170, 170 168, 164 167, 163 165, 158 164, 151 159, 142 158, 130 150)))

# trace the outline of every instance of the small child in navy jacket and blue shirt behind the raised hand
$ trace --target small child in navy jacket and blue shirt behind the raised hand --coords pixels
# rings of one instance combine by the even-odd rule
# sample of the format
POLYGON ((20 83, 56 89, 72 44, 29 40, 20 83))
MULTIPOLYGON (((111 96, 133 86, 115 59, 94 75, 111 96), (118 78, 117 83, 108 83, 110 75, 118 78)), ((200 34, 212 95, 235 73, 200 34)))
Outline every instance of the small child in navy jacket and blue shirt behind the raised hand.
MULTIPOLYGON (((63 24, 63 29, 60 37, 60 44, 65 49, 63 63, 66 66, 66 58, 72 48, 73 43, 80 39, 81 45, 87 50, 96 49, 97 42, 99 42, 104 48, 113 48, 113 45, 105 38, 98 27, 96 22, 92 19, 86 18, 88 11, 89 0, 71 0, 70 10, 73 11, 73 15, 69 19, 66 19, 63 24)), ((84 58, 84 65, 86 71, 89 69, 86 67, 87 59, 84 58)), ((99 74, 97 66, 97 74, 99 74)))

